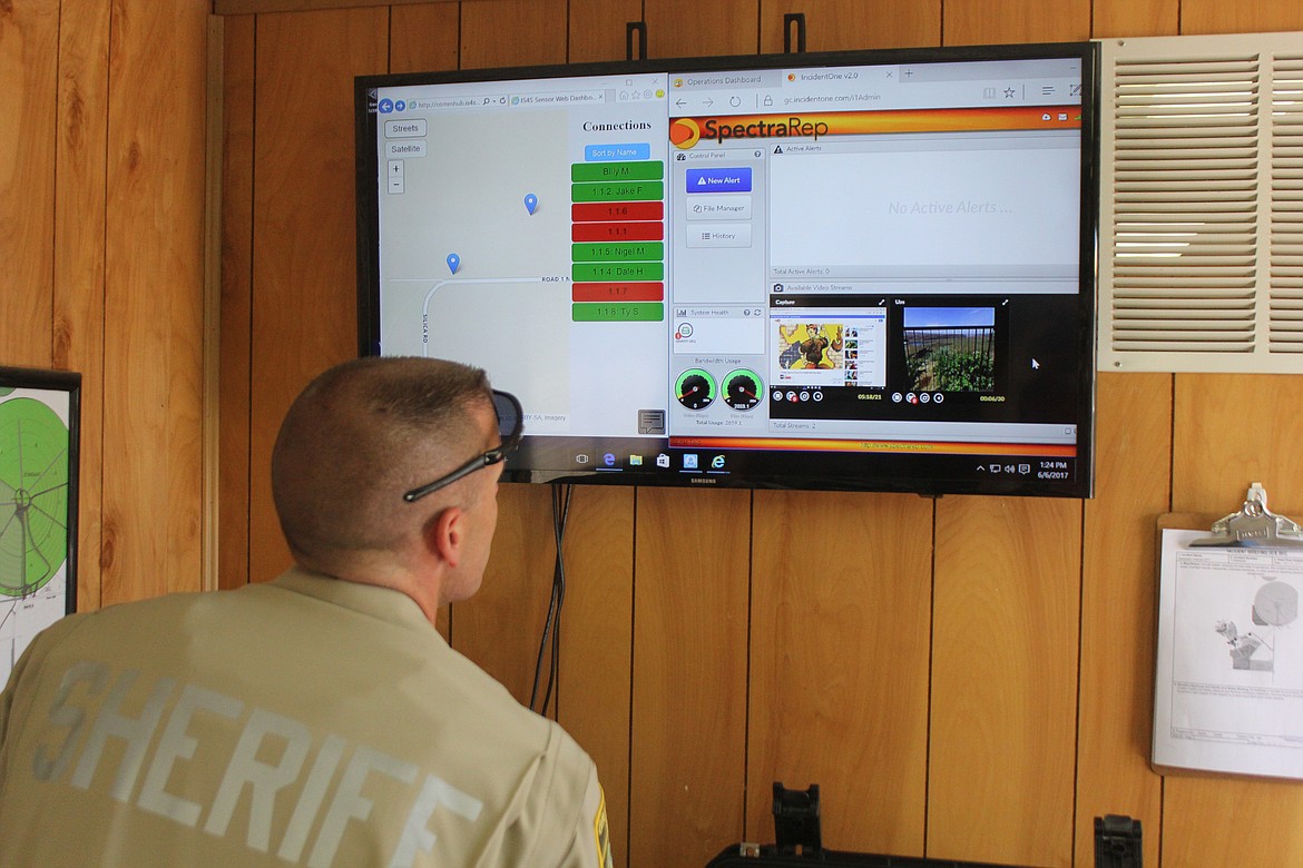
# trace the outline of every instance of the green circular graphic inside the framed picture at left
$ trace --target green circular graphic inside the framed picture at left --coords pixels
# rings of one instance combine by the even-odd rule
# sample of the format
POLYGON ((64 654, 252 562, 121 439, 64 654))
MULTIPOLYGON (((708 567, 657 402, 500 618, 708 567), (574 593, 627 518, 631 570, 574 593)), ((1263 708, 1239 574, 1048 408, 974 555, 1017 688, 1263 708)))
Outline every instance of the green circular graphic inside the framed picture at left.
POLYGON ((40 401, 0 403, 0 599, 26 597, 68 557, 68 426, 40 401))

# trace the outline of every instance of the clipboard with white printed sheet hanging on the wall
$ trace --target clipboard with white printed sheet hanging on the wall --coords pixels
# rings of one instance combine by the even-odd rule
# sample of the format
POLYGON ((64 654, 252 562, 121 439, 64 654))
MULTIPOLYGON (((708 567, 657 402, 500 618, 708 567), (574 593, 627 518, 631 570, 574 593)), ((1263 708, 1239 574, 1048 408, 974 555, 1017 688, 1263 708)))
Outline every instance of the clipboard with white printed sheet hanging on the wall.
POLYGON ((1154 768, 1303 780, 1303 528, 1253 483, 1158 534, 1154 768))

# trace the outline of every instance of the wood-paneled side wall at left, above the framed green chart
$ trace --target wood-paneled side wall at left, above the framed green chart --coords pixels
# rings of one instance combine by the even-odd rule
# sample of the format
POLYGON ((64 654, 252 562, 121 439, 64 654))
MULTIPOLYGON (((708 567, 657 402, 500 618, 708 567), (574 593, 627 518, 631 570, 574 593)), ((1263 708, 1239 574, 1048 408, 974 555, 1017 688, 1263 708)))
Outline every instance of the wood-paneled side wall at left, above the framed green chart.
POLYGON ((0 364, 82 375, 83 609, 201 586, 208 22, 0 3, 0 364))

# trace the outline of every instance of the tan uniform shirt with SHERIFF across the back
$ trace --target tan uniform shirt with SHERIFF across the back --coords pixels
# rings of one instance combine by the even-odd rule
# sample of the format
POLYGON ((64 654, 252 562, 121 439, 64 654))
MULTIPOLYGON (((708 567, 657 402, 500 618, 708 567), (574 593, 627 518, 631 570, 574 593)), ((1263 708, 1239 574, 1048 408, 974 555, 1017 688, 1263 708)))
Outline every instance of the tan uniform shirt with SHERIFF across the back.
POLYGON ((573 739, 384 588, 72 616, 0 695, 0 865, 580 868, 606 837, 573 739))

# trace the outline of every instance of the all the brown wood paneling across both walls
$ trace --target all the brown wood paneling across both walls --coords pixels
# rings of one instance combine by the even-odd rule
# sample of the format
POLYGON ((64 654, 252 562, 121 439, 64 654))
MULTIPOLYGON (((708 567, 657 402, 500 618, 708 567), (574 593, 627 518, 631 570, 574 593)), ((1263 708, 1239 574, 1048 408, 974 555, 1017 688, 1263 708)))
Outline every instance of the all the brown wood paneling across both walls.
MULTIPOLYGON (((356 349, 354 74, 614 59, 632 20, 657 56, 775 51, 796 10, 810 49, 1303 30, 1285 0, 215 5, 242 12, 222 18, 218 396, 208 4, 0 3, 0 364, 83 373, 82 608, 199 587, 214 405, 222 584, 288 563, 271 440, 356 349)), ((1303 864, 1303 785, 1164 778, 1147 759, 1154 519, 1225 513, 1252 480, 1303 510, 1300 401, 1300 377, 1102 373, 1087 502, 576 488, 558 716, 598 761, 619 864, 771 839, 775 780, 821 785, 823 841, 844 850, 1085 867, 1114 812, 1145 824, 1149 865, 1303 864), (689 534, 709 544, 675 544, 689 534), (790 569, 803 550, 825 561, 814 578, 790 569)), ((485 590, 444 627, 526 698, 550 492, 502 501, 485 590)))

